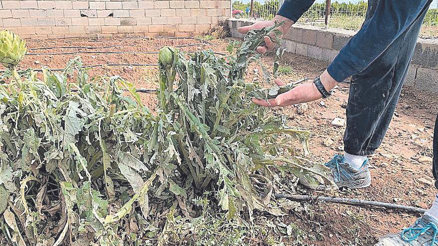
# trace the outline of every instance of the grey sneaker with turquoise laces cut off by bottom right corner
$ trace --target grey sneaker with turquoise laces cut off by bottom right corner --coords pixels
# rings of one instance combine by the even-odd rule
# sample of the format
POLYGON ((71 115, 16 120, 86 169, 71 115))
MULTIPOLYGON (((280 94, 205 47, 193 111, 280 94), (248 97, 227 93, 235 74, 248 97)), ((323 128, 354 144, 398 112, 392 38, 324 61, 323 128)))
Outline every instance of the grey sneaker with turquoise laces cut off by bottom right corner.
POLYGON ((437 225, 434 218, 424 215, 401 233, 382 237, 375 246, 438 246, 437 225))

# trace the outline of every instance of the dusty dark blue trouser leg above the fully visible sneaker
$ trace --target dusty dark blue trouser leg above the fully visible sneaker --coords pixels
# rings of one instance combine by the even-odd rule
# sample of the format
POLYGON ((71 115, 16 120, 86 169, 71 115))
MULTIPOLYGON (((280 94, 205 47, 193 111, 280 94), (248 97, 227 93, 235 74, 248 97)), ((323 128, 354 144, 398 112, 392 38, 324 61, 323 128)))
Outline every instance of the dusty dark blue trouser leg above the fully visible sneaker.
MULTIPOLYGON (((376 8, 383 5, 378 3, 379 0, 368 0, 365 22, 372 17, 376 8)), ((399 100, 428 7, 429 4, 371 65, 352 76, 344 134, 346 153, 371 155, 382 143, 399 100)))

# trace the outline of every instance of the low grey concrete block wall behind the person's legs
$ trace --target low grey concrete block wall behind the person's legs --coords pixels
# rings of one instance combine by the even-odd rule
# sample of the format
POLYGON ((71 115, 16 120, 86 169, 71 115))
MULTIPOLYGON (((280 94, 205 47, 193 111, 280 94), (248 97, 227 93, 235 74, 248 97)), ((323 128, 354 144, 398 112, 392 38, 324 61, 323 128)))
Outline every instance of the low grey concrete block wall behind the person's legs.
MULTIPOLYGON (((237 32, 237 28, 250 25, 253 22, 243 19, 228 19, 231 36, 243 38, 243 35, 237 32)), ((354 31, 343 29, 325 29, 311 25, 295 24, 283 36, 282 45, 286 47, 288 52, 293 54, 331 62, 354 34, 354 31)), ((418 40, 406 84, 438 92, 437 38, 418 40)))

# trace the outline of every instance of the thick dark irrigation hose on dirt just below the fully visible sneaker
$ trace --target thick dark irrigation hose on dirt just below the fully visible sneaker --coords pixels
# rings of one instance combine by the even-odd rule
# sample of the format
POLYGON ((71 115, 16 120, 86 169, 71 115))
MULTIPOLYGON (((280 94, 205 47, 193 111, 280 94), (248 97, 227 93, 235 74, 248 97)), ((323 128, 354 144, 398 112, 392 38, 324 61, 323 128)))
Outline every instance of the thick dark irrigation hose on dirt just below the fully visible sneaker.
POLYGON ((368 200, 361 200, 361 199, 350 199, 350 198, 341 198, 341 197, 328 197, 328 196, 308 196, 308 195, 288 195, 288 194, 275 194, 275 198, 287 198, 291 200, 298 200, 298 201, 310 201, 310 200, 317 200, 317 201, 326 201, 326 202, 333 202, 333 203, 342 203, 342 204, 348 204, 348 205, 365 205, 365 206, 373 206, 373 207, 382 207, 382 208, 389 208, 389 209, 399 209, 399 210, 405 210, 408 212, 414 212, 414 213, 424 213, 427 210, 424 208, 418 208, 418 207, 412 207, 412 206, 404 206, 399 204, 393 204, 393 203, 386 203, 386 202, 375 202, 375 201, 368 201, 368 200))

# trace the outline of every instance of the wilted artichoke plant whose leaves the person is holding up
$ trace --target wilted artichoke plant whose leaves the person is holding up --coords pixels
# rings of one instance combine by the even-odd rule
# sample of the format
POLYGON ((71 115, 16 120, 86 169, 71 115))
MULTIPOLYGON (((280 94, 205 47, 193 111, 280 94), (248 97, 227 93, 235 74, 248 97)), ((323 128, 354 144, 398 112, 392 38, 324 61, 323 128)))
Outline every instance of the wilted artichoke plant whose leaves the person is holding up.
MULTIPOLYGON (((176 190, 172 192, 177 196, 185 191, 188 201, 206 190, 215 191, 228 218, 251 216, 255 209, 282 214, 271 203, 279 180, 275 168, 314 185, 319 183, 315 176, 324 173, 324 168, 295 156, 299 151, 293 140, 306 154, 309 132, 289 128, 280 115, 254 105, 251 98, 266 89, 244 81, 248 63, 259 58, 255 49, 263 45, 265 35, 275 34, 276 27, 250 31, 230 56, 216 57, 212 51, 186 54, 165 47, 162 51, 171 49, 173 59, 159 61, 160 130, 152 135, 150 151, 161 158, 160 182, 173 180, 171 191, 176 190)), ((283 52, 279 49, 277 57, 283 52)), ((275 87, 275 92, 294 86, 275 87)), ((190 202, 185 207, 189 209, 190 202)))

